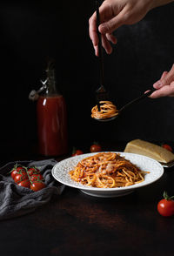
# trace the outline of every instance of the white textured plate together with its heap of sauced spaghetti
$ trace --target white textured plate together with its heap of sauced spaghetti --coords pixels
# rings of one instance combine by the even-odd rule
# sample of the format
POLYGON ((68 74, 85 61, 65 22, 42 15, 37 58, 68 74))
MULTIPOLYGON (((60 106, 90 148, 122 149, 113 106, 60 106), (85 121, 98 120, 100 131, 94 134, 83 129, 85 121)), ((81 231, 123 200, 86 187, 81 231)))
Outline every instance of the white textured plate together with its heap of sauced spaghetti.
POLYGON ((52 169, 64 185, 90 196, 124 196, 157 181, 164 167, 152 158, 126 152, 97 152, 66 158, 52 169))

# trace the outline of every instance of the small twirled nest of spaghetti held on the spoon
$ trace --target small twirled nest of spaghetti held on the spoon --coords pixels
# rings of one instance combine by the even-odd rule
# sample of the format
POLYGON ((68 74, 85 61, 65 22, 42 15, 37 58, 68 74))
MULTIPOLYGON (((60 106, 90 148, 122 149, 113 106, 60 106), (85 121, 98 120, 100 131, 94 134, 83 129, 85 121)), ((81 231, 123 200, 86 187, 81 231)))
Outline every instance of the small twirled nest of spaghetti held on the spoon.
POLYGON ((111 101, 100 101, 100 111, 98 111, 97 105, 91 109, 91 118, 113 118, 117 116, 118 110, 115 104, 112 104, 111 101))

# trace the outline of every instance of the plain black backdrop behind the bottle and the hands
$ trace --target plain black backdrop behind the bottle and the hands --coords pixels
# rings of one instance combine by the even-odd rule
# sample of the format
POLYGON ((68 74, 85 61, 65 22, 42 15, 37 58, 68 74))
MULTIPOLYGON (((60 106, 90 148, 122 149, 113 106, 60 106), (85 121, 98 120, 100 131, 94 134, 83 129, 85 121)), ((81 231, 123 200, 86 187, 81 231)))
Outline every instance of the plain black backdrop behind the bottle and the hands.
MULTIPOLYGON (((88 34, 95 1, 1 1, 0 143, 37 142, 36 103, 47 57, 57 64, 57 87, 68 108, 70 145, 174 140, 174 98, 147 98, 110 123, 90 118, 99 85, 98 59, 88 34)), ((105 86, 119 109, 137 98, 174 63, 174 3, 116 31, 118 43, 104 54, 105 86)))

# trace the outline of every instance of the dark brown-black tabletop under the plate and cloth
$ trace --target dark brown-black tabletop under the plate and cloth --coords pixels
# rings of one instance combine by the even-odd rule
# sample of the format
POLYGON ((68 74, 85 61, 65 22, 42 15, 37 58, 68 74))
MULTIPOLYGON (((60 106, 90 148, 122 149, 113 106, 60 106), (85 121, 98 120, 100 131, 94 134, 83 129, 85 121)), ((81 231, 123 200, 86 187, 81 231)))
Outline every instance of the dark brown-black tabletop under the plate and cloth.
MULTIPOLYGON (((124 145, 110 148, 123 151, 124 145)), ((107 146, 104 150, 108 150, 107 146)), ((36 153, 2 153, 11 160, 36 153)), ((61 158, 57 158, 59 160, 61 158)), ((174 217, 157 212, 163 192, 174 194, 174 168, 129 195, 103 199, 70 187, 28 215, 0 222, 0 253, 10 255, 173 255, 174 217)))

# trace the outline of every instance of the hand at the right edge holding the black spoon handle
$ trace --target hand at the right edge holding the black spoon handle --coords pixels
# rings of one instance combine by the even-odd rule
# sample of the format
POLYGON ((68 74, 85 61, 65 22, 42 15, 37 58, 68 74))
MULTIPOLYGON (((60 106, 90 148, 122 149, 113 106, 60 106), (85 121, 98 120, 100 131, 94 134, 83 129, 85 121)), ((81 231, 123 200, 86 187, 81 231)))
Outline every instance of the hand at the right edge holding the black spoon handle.
POLYGON ((163 72, 161 78, 153 84, 153 87, 157 91, 154 91, 150 98, 174 97, 174 64, 171 71, 163 72))

